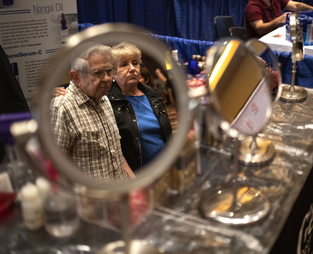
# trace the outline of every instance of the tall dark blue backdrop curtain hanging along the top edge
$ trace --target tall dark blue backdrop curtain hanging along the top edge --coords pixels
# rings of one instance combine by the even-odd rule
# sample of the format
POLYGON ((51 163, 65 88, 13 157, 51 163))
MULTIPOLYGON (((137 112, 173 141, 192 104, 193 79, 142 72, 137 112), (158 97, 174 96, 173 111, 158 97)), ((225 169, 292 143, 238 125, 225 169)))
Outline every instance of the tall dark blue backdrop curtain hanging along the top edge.
MULTIPOLYGON (((313 6, 313 0, 297 0, 313 6)), ((153 34, 216 41, 214 17, 232 16, 244 26, 249 0, 77 0, 79 23, 127 22, 153 34)))

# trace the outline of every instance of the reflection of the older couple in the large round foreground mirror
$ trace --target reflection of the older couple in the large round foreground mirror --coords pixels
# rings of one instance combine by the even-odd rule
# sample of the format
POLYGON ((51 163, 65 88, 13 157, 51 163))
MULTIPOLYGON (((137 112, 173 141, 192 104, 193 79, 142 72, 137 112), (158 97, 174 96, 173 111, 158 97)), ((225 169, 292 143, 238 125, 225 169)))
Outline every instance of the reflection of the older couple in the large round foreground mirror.
POLYGON ((50 110, 60 151, 88 177, 135 177, 172 137, 169 114, 176 122, 175 96, 164 67, 128 42, 112 47, 92 43, 71 62, 69 74, 69 86, 54 89, 50 110))

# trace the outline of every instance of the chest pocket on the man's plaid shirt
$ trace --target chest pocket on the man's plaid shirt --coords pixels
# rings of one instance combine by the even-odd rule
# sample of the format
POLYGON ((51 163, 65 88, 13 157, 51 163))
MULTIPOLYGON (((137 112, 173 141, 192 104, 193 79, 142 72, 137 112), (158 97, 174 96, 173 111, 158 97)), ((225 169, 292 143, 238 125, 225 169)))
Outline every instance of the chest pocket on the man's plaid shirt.
POLYGON ((108 141, 105 136, 105 130, 82 131, 81 146, 86 158, 106 156, 108 153, 108 141))

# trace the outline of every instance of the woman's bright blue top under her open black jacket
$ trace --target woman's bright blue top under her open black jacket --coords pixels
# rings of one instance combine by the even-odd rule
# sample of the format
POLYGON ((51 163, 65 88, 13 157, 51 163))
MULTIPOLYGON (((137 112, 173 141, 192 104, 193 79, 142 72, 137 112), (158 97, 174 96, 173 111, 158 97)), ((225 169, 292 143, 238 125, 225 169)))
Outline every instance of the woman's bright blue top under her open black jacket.
POLYGON ((162 151, 166 138, 146 95, 124 95, 124 97, 129 100, 136 114, 142 165, 145 165, 162 151))

